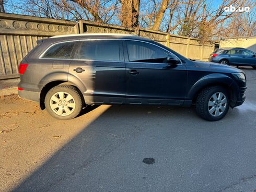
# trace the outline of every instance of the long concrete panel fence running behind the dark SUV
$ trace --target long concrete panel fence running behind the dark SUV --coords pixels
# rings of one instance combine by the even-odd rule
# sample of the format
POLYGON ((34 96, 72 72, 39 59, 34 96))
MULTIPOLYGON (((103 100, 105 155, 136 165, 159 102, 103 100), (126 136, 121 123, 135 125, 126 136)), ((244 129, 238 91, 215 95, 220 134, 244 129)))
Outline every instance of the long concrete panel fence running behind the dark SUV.
POLYGON ((181 55, 206 61, 216 42, 200 44, 198 39, 148 29, 133 29, 80 20, 78 22, 0 13, 0 80, 17 78, 18 65, 37 40, 60 34, 126 33, 149 38, 181 55))

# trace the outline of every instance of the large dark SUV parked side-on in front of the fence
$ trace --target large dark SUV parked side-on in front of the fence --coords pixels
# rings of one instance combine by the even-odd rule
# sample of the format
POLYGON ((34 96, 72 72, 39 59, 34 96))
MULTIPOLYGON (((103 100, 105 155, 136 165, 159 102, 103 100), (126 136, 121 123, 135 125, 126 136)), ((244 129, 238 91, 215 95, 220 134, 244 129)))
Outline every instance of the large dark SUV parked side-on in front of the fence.
POLYGON ((195 104, 199 116, 217 121, 245 101, 242 70, 191 61, 135 35, 61 35, 37 43, 19 65, 18 95, 55 118, 74 118, 91 104, 195 104))

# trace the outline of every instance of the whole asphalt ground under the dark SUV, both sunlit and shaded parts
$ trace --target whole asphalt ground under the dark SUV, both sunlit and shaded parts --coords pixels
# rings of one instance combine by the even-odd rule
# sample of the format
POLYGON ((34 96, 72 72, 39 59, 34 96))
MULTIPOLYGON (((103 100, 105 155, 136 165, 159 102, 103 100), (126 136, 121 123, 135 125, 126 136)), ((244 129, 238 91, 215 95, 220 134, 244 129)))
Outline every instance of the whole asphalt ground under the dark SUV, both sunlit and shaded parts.
POLYGON ((256 70, 245 71, 246 103, 218 122, 194 107, 107 105, 57 121, 2 97, 0 191, 256 191, 256 70))

